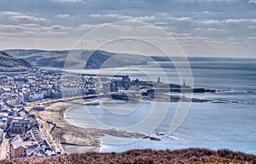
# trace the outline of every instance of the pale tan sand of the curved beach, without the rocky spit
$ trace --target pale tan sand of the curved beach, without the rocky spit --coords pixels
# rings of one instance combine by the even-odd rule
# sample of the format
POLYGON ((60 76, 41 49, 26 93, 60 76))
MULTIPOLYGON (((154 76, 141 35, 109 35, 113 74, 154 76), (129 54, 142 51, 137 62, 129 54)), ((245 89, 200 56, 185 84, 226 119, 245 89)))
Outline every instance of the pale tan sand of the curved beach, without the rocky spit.
MULTIPOLYGON (((81 102, 81 100, 72 101, 81 102)), ((45 110, 30 110, 30 112, 37 116, 38 121, 44 125, 44 129, 52 136, 55 143, 62 147, 65 153, 98 152, 100 150, 100 139, 94 138, 91 135, 93 132, 66 122, 64 118, 65 111, 73 106, 75 105, 67 102, 50 102, 46 103, 45 110), (47 123, 46 120, 48 119, 53 123, 47 123)))

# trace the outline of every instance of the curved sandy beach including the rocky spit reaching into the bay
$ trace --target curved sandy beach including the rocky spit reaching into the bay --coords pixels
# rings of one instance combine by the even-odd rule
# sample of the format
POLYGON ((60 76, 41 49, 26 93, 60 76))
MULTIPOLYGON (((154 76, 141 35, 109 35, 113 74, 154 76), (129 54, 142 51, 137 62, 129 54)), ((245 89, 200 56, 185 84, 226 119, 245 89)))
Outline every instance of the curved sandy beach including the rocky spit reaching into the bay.
MULTIPOLYGON (((90 102, 90 100, 88 100, 90 102)), ((118 131, 116 129, 93 129, 76 127, 66 122, 64 115, 65 111, 72 108, 77 103, 84 103, 84 99, 69 99, 65 102, 58 100, 42 101, 32 103, 26 107, 32 114, 37 116, 38 122, 43 124, 43 128, 50 135, 51 139, 62 152, 67 154, 84 153, 84 152, 98 152, 101 146, 101 137, 104 135, 111 135, 123 138, 143 138, 140 133, 130 133, 125 131, 118 131), (45 110, 32 110, 33 105, 44 105, 45 110), (51 120, 53 123, 49 124, 46 121, 51 120)))

